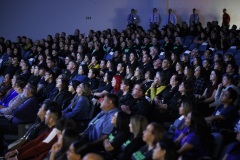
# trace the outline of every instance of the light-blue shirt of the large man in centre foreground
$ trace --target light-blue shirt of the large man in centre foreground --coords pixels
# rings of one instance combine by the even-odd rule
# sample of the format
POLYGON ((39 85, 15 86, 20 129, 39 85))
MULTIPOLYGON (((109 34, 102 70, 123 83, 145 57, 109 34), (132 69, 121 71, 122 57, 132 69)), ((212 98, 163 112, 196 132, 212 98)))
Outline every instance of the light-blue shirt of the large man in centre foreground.
POLYGON ((88 124, 88 128, 83 132, 84 138, 89 142, 93 142, 100 139, 103 135, 109 135, 114 128, 111 123, 112 116, 118 111, 118 108, 114 108, 107 112, 101 111, 88 124))

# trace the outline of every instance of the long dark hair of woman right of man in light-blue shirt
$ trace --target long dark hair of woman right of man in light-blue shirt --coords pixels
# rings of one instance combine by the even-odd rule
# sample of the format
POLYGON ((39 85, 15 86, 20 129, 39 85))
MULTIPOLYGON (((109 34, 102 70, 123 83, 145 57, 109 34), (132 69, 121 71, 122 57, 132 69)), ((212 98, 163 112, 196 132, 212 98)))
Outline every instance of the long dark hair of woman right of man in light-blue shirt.
POLYGON ((129 131, 130 116, 129 114, 120 111, 117 115, 116 128, 118 131, 129 131))

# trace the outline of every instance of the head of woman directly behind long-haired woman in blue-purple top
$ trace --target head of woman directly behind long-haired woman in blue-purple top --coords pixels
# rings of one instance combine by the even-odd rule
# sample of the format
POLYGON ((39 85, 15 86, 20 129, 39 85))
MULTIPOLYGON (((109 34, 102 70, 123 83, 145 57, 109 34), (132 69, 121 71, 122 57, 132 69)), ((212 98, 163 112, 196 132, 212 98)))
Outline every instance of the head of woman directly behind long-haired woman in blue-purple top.
POLYGON ((192 111, 193 106, 194 103, 192 99, 190 98, 184 99, 179 107, 179 114, 186 117, 187 114, 192 111))

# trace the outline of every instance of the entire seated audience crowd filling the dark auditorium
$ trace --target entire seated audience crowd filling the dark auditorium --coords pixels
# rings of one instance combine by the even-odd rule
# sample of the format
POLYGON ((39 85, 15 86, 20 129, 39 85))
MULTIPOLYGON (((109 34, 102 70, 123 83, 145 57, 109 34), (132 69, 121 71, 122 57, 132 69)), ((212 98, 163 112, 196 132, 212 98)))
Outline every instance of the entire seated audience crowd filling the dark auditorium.
POLYGON ((239 159, 239 47, 236 25, 216 21, 147 31, 128 25, 87 37, 76 29, 35 42, 0 37, 1 154, 239 159), (21 124, 31 127, 9 142, 21 124))

